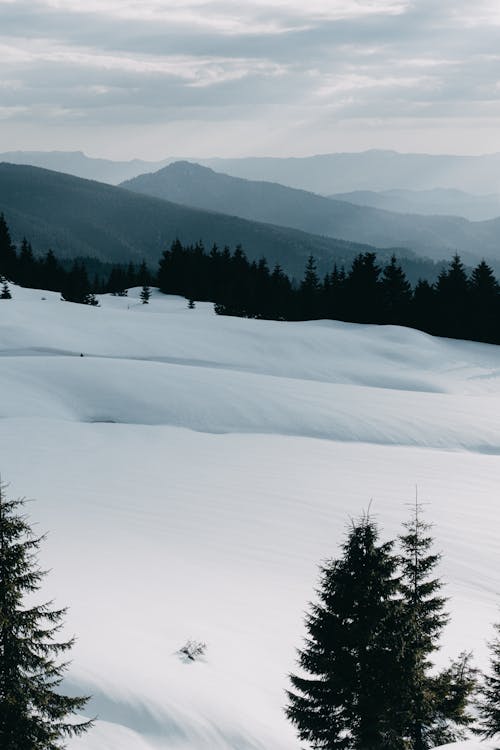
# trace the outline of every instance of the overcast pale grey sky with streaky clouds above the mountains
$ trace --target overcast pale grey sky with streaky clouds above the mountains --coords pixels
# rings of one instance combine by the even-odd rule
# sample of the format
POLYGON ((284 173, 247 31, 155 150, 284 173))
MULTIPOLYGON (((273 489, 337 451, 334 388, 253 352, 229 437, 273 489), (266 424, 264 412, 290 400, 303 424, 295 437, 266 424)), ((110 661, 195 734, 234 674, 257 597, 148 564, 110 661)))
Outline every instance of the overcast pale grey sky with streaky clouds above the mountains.
POLYGON ((0 151, 500 151, 499 0, 0 0, 0 151))

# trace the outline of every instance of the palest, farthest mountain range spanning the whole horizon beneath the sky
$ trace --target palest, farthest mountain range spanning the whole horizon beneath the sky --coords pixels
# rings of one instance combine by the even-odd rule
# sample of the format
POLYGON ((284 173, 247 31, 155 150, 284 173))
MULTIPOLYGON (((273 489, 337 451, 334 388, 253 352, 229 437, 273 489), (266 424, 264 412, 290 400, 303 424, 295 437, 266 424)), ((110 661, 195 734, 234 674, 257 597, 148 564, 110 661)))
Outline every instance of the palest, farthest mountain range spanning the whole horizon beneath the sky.
MULTIPOLYGON (((140 159, 112 161, 90 158, 81 151, 10 151, 0 154, 0 161, 31 164, 110 184, 118 184, 144 172, 157 171, 179 160, 179 157, 169 157, 151 162, 140 159)), ((188 160, 233 177, 277 182, 321 195, 359 190, 419 191, 436 188, 460 190, 481 196, 488 193, 500 195, 500 154, 453 156, 374 150, 304 158, 202 159, 190 156, 188 160)), ((472 196, 472 202, 475 197, 476 195, 472 196)), ((399 210, 395 206, 375 207, 399 210)), ((441 203, 439 213, 443 213, 441 203)), ((444 213, 455 214, 455 211, 446 210, 444 213)), ((468 213, 464 215, 475 218, 468 213)))

